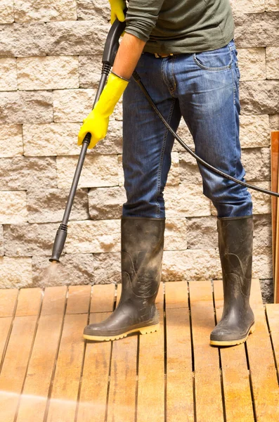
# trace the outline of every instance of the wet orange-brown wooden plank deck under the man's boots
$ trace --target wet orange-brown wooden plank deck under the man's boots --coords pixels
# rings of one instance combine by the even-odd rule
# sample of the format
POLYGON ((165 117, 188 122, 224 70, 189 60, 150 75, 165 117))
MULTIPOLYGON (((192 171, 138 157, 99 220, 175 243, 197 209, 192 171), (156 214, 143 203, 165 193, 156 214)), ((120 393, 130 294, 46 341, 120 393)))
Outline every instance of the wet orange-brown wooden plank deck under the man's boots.
POLYGON ((221 281, 161 285, 161 330, 84 341, 121 286, 0 290, 1 422, 279 421, 279 305, 252 283, 256 331, 212 347, 221 281))

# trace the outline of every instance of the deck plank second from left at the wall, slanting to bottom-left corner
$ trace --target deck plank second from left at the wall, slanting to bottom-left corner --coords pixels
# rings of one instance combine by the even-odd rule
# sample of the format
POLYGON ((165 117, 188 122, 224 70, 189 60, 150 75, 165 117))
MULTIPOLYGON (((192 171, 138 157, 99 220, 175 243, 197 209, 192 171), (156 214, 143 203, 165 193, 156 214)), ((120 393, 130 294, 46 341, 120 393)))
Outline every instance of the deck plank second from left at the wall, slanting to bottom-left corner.
POLYGON ((37 326, 41 297, 41 289, 20 290, 18 308, 0 376, 1 422, 13 422, 15 418, 37 326))

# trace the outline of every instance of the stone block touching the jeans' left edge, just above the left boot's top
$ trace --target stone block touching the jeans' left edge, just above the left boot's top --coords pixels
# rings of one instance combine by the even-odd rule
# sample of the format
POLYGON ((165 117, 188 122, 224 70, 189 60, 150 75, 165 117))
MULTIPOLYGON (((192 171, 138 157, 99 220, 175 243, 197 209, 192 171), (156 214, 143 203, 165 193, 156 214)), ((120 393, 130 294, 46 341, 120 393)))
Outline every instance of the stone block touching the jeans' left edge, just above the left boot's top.
POLYGON ((96 188, 89 192, 89 214, 91 219, 119 219, 122 205, 126 202, 123 187, 96 188))

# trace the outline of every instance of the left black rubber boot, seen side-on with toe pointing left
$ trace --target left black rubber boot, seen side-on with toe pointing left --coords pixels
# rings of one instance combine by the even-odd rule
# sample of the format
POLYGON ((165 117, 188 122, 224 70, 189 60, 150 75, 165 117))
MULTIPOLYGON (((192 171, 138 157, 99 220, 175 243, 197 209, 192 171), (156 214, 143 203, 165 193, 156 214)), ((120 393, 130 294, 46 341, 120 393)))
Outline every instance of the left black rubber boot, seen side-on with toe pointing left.
POLYGON ((155 306, 162 269, 164 218, 122 217, 122 293, 105 321, 84 328, 89 340, 117 340, 129 333, 159 329, 155 306))

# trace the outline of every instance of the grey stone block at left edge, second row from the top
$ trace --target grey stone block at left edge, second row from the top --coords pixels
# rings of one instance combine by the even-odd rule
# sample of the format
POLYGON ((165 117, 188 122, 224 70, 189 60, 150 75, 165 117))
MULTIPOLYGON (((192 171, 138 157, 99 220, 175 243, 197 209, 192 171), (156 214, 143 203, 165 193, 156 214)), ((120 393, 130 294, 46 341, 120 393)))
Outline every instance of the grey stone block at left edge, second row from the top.
POLYGON ((48 41, 45 23, 0 25, 0 57, 46 56, 48 41))

